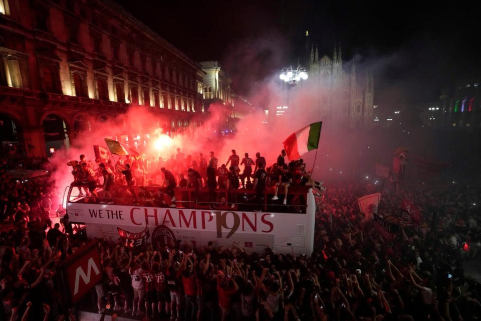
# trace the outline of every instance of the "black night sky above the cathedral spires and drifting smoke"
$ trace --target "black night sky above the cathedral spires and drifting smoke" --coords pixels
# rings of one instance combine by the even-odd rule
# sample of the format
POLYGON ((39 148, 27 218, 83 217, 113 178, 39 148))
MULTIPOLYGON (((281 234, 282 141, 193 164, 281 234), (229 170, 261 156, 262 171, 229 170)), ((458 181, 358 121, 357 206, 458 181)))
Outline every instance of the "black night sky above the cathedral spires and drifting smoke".
POLYGON ((219 60, 234 90, 256 83, 304 54, 305 31, 345 66, 375 70, 375 103, 407 108, 438 100, 456 78, 481 75, 475 2, 160 1, 116 0, 196 61, 219 60))

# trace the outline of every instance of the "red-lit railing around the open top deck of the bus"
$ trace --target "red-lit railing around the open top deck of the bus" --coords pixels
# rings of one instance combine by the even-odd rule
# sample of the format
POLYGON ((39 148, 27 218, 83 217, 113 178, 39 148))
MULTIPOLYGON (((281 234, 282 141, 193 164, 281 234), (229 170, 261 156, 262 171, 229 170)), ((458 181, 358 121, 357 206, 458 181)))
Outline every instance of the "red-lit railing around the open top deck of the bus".
MULTIPOLYGON (((68 202, 81 202, 81 203, 92 203, 92 198, 89 195, 76 194, 74 189, 78 186, 70 186, 67 192, 68 202)), ((84 187, 82 186, 82 189, 84 187)), ((116 204, 116 205, 138 205, 138 206, 154 206, 154 200, 152 199, 142 199, 139 198, 141 190, 147 190, 152 197, 156 196, 157 191, 160 189, 162 192, 166 192, 166 187, 163 186, 126 186, 126 185, 114 185, 111 188, 111 193, 124 193, 128 191, 134 191, 137 197, 130 194, 127 197, 115 197, 111 196, 106 198, 102 189, 102 185, 98 185, 96 192, 98 192, 98 199, 95 203, 102 204, 116 204)), ((306 213, 307 208, 307 193, 311 193, 309 187, 305 186, 291 186, 288 191, 288 203, 286 205, 279 204, 276 202, 282 202, 284 198, 284 190, 280 189, 278 191, 279 201, 271 200, 271 196, 274 195, 275 190, 273 187, 267 187, 263 194, 262 202, 252 202, 256 197, 256 191, 251 189, 238 189, 235 191, 229 189, 215 189, 215 202, 209 200, 209 191, 207 188, 200 188, 198 192, 192 188, 175 188, 174 189, 175 201, 172 203, 176 208, 210 208, 210 209, 250 209, 255 208, 257 210, 268 211, 268 209, 273 210, 273 212, 286 212, 286 213, 306 213), (197 200, 194 199, 194 194, 197 195, 197 200), (236 194, 236 202, 233 202, 232 193, 236 194), (239 196, 240 195, 240 196, 239 196), (220 200, 224 199, 222 202, 220 200), (232 204, 234 207, 232 207, 232 204)), ((158 206, 156 206, 158 207, 158 206)), ((169 207, 165 205, 163 207, 169 207)), ((173 206, 172 206, 173 207, 173 206)))

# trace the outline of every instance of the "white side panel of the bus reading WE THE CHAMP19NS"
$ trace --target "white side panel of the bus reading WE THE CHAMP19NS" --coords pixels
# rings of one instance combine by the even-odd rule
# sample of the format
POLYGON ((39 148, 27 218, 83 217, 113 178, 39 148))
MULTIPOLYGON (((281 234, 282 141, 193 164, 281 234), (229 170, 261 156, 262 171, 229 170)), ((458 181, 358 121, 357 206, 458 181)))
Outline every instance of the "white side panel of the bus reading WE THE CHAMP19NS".
MULTIPOLYGON (((312 194, 311 194, 312 195, 312 194)), ((266 247, 279 253, 311 253, 314 246, 314 197, 308 195, 308 213, 251 211, 212 211, 143 207, 116 204, 67 203, 71 223, 85 224, 91 237, 121 235, 117 228, 132 235, 149 230, 156 247, 186 245, 197 247, 213 241, 216 246, 239 242, 247 251, 260 252, 266 247)), ((135 238, 138 240, 138 238, 135 238)), ((139 241, 140 242, 140 241, 139 241)))

